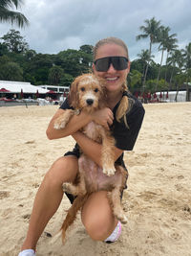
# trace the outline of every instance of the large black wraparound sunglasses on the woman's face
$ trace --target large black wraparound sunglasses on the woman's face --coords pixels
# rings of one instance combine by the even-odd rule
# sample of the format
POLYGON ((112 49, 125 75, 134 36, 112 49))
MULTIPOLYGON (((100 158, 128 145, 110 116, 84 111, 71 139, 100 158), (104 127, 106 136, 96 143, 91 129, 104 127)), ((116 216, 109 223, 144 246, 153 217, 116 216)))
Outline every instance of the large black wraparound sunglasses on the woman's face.
POLYGON ((128 58, 121 56, 97 58, 95 61, 96 71, 106 72, 111 63, 116 70, 124 70, 128 67, 128 58))

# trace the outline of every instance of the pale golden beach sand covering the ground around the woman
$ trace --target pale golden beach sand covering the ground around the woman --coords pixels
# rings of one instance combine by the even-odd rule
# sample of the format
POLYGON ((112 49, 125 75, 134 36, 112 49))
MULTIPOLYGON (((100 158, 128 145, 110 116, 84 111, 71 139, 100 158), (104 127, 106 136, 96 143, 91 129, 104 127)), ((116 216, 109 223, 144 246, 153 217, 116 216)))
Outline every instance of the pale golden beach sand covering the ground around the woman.
MULTIPOLYGON (((65 245, 43 233, 37 255, 191 255, 191 103, 144 105, 146 114, 133 151, 123 204, 128 223, 115 244, 92 241, 80 216, 65 245)), ((46 128, 57 106, 0 108, 0 255, 17 255, 32 202, 53 161, 73 149, 72 137, 50 141, 46 128)), ((60 228, 69 200, 45 231, 60 228)))

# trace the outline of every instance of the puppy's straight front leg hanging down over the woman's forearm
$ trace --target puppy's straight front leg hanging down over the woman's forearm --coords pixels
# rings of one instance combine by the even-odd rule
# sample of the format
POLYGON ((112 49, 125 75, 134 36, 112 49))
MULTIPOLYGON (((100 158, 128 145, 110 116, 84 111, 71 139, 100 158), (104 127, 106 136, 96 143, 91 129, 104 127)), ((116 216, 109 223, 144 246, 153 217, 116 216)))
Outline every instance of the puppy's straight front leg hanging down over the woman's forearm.
POLYGON ((106 134, 105 130, 102 128, 102 168, 103 174, 105 175, 115 175, 116 168, 114 166, 114 150, 115 150, 115 139, 112 136, 106 134))

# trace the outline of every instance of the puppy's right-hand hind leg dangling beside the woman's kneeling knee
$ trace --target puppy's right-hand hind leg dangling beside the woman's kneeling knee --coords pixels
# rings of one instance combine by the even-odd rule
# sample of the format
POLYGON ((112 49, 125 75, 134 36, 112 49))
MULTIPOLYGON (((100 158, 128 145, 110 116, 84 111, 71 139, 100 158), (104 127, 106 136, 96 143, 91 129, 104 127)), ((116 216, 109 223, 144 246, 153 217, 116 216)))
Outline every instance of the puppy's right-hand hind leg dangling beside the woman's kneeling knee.
POLYGON ((113 206, 114 216, 116 216, 117 220, 121 221, 121 223, 125 224, 127 222, 127 218, 122 209, 119 189, 113 189, 112 192, 108 192, 107 196, 113 206))

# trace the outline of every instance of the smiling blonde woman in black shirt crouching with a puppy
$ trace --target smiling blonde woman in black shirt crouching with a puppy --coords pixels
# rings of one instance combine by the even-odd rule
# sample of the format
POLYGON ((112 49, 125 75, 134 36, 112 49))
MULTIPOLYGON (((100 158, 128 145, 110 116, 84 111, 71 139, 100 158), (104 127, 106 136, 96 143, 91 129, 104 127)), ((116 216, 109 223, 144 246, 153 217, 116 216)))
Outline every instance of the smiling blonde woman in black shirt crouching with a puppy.
MULTIPOLYGON (((54 114, 47 128, 47 136, 49 139, 57 139, 72 135, 82 151, 101 166, 102 146, 79 131, 91 121, 95 121, 105 128, 112 128, 116 139, 116 161, 124 166, 123 151, 133 149, 144 116, 142 105, 127 91, 126 79, 130 71, 130 61, 124 42, 116 37, 98 41, 94 50, 93 70, 96 76, 106 80, 109 107, 97 110, 94 115, 81 111, 71 119, 66 128, 56 130, 53 128, 54 119, 70 107, 66 101, 54 114), (126 102, 126 109, 121 109, 122 101, 126 102), (119 116, 118 119, 116 115, 119 116)), ((45 175, 34 200, 27 238, 19 256, 35 255, 37 241, 63 197, 63 182, 74 182, 78 172, 78 146, 74 151, 67 152, 65 156, 57 159, 45 175)), ((121 226, 113 216, 106 193, 99 191, 87 199, 81 211, 81 221, 93 240, 114 242, 120 234, 121 226)), ((68 197, 73 201, 72 195, 68 197)))

